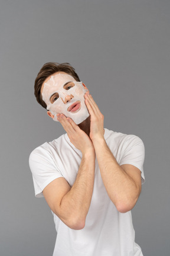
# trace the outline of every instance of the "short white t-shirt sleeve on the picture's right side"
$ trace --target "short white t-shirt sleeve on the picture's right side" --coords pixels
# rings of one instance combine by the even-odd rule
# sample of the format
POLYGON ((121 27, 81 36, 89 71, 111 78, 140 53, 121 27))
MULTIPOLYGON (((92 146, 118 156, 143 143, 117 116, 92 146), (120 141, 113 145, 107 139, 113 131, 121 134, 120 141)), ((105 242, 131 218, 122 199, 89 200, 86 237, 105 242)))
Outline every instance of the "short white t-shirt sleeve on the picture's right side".
POLYGON ((127 135, 123 143, 123 154, 119 164, 131 164, 140 169, 142 184, 145 183, 145 175, 143 172, 144 159, 145 146, 142 140, 138 136, 127 135))

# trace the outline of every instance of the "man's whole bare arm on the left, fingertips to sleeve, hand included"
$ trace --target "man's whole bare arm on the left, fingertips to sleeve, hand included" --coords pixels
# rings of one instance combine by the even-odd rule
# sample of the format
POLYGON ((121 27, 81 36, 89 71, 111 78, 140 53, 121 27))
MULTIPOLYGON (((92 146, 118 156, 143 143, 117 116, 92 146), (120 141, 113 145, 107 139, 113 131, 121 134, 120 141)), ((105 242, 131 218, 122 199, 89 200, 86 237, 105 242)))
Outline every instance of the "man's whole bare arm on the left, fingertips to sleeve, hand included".
POLYGON ((73 186, 57 178, 44 188, 43 194, 51 210, 72 229, 84 228, 94 184, 95 152, 89 136, 73 120, 60 117, 70 141, 82 152, 80 168, 73 186))

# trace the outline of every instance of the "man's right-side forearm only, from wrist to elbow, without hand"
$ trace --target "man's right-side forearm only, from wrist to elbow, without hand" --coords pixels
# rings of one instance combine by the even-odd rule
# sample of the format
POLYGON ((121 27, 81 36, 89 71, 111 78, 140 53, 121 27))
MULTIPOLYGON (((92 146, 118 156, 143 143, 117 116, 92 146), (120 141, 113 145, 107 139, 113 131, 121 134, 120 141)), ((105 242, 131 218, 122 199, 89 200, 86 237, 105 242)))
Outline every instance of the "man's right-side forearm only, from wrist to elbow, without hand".
POLYGON ((120 212, 129 207, 133 208, 139 196, 135 181, 117 163, 104 139, 96 140, 93 144, 102 180, 110 199, 120 212))

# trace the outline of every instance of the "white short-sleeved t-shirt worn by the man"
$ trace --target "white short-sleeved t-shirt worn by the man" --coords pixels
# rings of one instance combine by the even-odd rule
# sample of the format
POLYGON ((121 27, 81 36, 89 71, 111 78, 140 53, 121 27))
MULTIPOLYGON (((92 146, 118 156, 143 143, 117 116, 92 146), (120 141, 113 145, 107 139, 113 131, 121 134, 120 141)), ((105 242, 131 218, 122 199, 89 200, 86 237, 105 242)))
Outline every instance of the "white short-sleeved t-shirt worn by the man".
MULTIPOLYGON (((104 129, 104 139, 119 165, 131 164, 140 169, 142 183, 145 149, 135 135, 125 135, 104 129)), ((45 142, 30 155, 30 168, 35 196, 43 197, 44 188, 64 177, 72 186, 81 162, 81 152, 70 142, 67 134, 45 142)), ((131 212, 120 213, 109 199, 95 165, 93 196, 84 229, 68 228, 54 213, 57 239, 53 256, 142 256, 135 243, 131 212)))

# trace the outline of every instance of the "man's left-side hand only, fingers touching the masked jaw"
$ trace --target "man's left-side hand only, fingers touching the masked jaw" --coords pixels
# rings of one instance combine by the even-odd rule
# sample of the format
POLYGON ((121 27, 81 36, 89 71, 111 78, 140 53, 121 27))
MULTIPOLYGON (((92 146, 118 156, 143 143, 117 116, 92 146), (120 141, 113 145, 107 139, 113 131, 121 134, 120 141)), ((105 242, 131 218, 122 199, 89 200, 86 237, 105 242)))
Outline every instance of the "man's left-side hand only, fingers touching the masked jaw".
POLYGON ((64 116, 64 114, 57 114, 57 120, 66 130, 70 142, 81 151, 82 155, 87 151, 95 152, 90 137, 72 119, 64 116))

